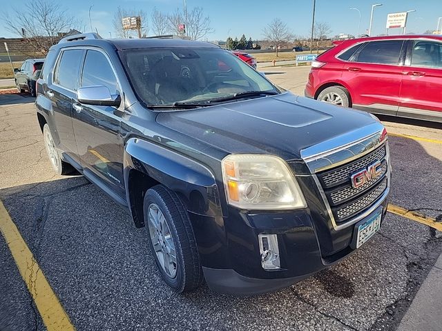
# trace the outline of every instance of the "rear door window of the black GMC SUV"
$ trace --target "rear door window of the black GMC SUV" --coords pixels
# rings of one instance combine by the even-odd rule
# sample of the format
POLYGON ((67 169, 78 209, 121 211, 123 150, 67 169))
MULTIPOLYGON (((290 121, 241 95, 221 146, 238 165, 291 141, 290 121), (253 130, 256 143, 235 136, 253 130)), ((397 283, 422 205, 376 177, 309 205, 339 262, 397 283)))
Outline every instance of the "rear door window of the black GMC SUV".
POLYGON ((83 50, 64 50, 55 71, 54 83, 76 90, 83 50))

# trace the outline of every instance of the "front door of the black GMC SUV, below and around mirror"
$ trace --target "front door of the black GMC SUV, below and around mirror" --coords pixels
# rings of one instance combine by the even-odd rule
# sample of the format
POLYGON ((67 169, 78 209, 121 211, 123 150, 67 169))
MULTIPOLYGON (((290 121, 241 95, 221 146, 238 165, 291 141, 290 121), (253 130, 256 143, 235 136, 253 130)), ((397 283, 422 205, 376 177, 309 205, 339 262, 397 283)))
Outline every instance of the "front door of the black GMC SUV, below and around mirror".
MULTIPOLYGON (((111 60, 99 49, 87 50, 79 85, 105 86, 111 94, 122 95, 111 60)), ((81 166, 120 197, 124 197, 122 109, 123 105, 93 106, 76 99, 73 112, 81 166)))

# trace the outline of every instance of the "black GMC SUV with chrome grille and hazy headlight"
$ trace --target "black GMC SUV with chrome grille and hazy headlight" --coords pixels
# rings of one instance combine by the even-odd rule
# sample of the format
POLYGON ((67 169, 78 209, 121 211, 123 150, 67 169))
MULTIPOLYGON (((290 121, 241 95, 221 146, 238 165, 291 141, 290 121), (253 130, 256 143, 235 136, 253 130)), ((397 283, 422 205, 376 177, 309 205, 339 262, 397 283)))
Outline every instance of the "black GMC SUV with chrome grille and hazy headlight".
POLYGON ((177 292, 203 279, 231 294, 285 287, 385 217, 376 117, 284 92, 211 43, 66 37, 37 92, 53 168, 127 208, 177 292))

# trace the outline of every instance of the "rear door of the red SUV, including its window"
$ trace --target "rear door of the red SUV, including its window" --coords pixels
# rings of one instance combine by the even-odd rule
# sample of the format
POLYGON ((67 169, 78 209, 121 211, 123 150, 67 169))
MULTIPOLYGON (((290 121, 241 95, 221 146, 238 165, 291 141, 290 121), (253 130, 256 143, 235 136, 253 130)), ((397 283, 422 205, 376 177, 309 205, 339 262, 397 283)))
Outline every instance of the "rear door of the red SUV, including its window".
POLYGON ((369 41, 345 62, 342 80, 354 108, 396 114, 402 80, 403 40, 369 41))

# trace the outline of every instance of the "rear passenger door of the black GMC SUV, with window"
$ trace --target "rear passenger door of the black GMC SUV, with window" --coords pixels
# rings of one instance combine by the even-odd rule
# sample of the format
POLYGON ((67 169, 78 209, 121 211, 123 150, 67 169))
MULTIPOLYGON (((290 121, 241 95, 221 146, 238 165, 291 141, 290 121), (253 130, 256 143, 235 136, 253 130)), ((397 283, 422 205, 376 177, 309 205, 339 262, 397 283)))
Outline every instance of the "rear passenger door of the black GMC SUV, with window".
POLYGON ((78 77, 84 50, 79 48, 66 48, 61 50, 53 79, 48 81, 45 94, 52 103, 55 123, 55 132, 52 136, 58 138, 58 148, 68 155, 68 161, 79 163, 77 144, 75 143, 72 123, 73 100, 76 98, 78 77))

